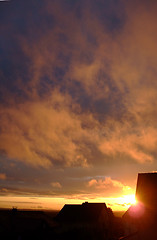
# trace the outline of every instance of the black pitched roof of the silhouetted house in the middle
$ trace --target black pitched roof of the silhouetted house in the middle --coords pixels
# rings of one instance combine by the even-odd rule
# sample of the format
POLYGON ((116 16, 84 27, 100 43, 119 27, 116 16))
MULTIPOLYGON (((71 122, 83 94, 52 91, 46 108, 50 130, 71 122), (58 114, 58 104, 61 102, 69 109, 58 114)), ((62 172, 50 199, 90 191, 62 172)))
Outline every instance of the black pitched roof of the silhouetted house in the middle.
POLYGON ((93 222, 102 212, 107 212, 105 203, 88 203, 82 205, 64 205, 56 217, 60 222, 93 222))

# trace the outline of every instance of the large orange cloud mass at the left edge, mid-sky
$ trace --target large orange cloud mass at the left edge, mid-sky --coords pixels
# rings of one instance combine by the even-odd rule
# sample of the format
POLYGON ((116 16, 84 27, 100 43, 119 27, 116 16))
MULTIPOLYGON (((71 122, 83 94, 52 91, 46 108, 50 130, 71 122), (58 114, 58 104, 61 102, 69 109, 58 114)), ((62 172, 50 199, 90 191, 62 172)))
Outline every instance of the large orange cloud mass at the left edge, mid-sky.
POLYGON ((32 166, 87 166, 88 146, 81 141, 92 138, 82 122, 87 121, 91 128, 95 120, 90 114, 85 118, 76 115, 70 110, 71 104, 68 96, 54 91, 42 101, 1 108, 0 149, 8 157, 32 166))

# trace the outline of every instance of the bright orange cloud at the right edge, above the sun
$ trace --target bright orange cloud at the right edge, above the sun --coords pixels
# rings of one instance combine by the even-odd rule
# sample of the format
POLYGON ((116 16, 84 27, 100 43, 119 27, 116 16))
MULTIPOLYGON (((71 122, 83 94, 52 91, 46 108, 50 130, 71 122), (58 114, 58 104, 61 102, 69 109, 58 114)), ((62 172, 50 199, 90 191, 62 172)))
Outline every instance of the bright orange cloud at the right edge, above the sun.
POLYGON ((135 131, 133 133, 129 131, 131 129, 129 124, 116 124, 114 132, 109 131, 107 137, 102 138, 100 150, 113 157, 123 154, 123 157, 129 157, 140 163, 152 162, 154 157, 151 152, 155 150, 157 131, 151 128, 143 130, 139 126, 132 128, 135 131))

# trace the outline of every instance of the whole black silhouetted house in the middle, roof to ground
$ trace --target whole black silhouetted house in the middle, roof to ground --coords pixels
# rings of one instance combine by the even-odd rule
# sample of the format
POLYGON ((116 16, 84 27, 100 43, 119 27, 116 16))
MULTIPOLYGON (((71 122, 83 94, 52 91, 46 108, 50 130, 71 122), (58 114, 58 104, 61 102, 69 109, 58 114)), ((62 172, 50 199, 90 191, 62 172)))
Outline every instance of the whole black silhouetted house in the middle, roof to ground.
POLYGON ((114 215, 105 203, 64 205, 56 216, 60 234, 68 239, 109 239, 114 215), (78 238, 77 238, 78 237, 78 238))

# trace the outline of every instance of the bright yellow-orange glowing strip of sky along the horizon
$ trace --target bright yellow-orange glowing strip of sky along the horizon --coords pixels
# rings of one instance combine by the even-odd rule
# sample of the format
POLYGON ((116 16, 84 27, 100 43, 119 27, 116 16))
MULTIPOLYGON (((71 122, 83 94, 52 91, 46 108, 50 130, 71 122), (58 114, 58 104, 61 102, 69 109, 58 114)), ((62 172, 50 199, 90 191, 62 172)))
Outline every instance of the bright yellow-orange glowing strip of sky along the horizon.
POLYGON ((88 198, 75 196, 74 198, 51 198, 51 197, 27 197, 27 196, 6 196, 0 197, 0 208, 12 208, 18 209, 40 209, 40 210, 60 210, 64 204, 82 204, 83 202, 105 202, 107 207, 110 207, 113 211, 126 211, 131 205, 135 204, 135 195, 123 195, 122 197, 115 198, 88 198))

